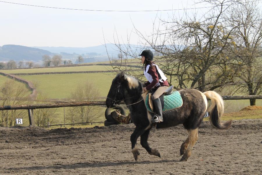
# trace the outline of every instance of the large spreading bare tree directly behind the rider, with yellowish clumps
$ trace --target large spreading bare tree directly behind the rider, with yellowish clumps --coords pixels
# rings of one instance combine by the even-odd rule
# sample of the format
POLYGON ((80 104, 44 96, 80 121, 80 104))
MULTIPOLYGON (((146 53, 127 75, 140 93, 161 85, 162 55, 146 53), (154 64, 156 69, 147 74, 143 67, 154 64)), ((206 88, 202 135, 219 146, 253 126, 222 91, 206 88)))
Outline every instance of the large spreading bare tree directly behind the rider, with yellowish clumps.
MULTIPOLYGON (((184 13, 181 17, 171 16, 167 20, 154 21, 150 35, 136 30, 140 38, 141 50, 150 48, 162 55, 155 57, 162 71, 168 76, 169 83, 178 82, 179 88, 195 88, 202 92, 215 90, 233 83, 234 71, 228 71, 233 57, 228 55, 233 48, 233 27, 225 25, 226 10, 236 1, 209 1, 212 9, 203 16, 184 13), (160 29, 165 26, 165 29, 160 29)), ((137 48, 131 45, 115 45, 122 55, 134 57, 137 48)), ((141 51, 140 51, 141 52, 141 51)), ((125 65, 125 60, 122 61, 125 65)), ((127 69, 125 69, 127 70, 127 69)), ((143 79, 143 72, 129 74, 143 79)))

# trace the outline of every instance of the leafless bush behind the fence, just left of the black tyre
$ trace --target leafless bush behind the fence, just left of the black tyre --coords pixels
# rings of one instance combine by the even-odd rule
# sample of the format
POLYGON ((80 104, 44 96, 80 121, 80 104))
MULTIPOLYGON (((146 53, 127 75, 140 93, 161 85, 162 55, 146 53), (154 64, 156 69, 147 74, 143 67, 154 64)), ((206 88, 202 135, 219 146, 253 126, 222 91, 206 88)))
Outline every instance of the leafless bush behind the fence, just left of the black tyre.
MULTIPOLYGON (((71 93, 69 99, 73 101, 95 101, 99 96, 95 86, 91 82, 86 82, 79 84, 75 92, 71 93)), ((99 106, 69 107, 67 119, 71 122, 92 122, 101 116, 100 108, 99 106)))

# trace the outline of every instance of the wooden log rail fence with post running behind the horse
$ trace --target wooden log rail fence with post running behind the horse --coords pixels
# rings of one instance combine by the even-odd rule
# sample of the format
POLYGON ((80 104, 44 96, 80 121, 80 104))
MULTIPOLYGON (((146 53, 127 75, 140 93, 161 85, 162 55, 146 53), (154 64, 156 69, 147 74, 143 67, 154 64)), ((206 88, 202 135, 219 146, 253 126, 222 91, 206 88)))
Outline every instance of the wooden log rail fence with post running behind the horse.
MULTIPOLYGON (((224 100, 262 99, 262 95, 222 96, 222 98, 224 100)), ((208 99, 208 100, 210 100, 210 99, 208 99)), ((120 104, 124 104, 124 102, 121 102, 120 104)), ((51 104, 29 104, 29 105, 17 105, 17 106, 0 106, 0 111, 27 109, 28 110, 28 116, 29 116, 29 126, 33 126, 33 125, 35 125, 34 117, 33 117, 33 110, 34 109, 62 108, 62 107, 74 107, 74 106, 105 106, 105 105, 106 105, 105 101, 84 101, 84 102, 66 102, 66 103, 51 103, 51 104)))

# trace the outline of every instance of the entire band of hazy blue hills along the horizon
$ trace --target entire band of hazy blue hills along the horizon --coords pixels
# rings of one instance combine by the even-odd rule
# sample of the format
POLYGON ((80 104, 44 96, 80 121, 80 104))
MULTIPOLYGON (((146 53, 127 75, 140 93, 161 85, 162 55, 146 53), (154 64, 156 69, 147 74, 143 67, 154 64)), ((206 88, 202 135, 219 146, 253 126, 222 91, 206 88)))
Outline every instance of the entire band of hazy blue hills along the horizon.
MULTIPOLYGON (((0 61, 41 61, 43 55, 53 56, 55 54, 61 54, 63 59, 72 59, 77 61, 76 58, 79 55, 84 57, 84 62, 98 62, 108 60, 110 57, 117 57, 119 53, 118 48, 114 44, 75 48, 75 47, 26 47, 19 45, 4 45, 0 46, 0 61), (108 55, 107 55, 108 54, 108 55)), ((121 44, 122 48, 126 46, 121 44)), ((138 45, 132 45, 133 52, 136 52, 135 48, 139 48, 138 45)), ((140 49, 137 49, 137 53, 140 49)), ((77 63, 77 62, 76 62, 77 63)))

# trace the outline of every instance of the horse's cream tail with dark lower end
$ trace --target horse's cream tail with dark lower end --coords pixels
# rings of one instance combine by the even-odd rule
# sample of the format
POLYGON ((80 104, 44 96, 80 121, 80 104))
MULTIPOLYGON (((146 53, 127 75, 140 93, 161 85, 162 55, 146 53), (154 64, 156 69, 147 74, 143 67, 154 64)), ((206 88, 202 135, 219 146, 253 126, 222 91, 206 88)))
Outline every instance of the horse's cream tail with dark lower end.
POLYGON ((232 120, 221 122, 221 117, 224 113, 224 101, 222 97, 215 91, 204 92, 206 97, 211 100, 211 105, 208 107, 207 111, 210 112, 209 122, 217 129, 227 129, 230 127, 232 120))

